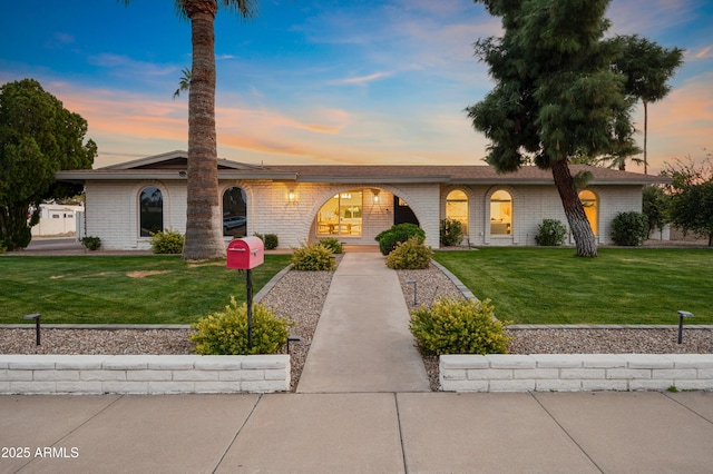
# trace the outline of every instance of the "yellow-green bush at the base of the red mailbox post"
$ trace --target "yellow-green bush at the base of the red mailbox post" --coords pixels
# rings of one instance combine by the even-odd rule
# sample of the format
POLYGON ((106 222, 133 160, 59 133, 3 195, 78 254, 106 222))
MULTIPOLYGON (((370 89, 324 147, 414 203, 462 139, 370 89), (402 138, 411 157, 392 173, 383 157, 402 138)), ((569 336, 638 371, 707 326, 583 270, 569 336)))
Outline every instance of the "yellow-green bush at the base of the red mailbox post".
POLYGON ((193 325, 191 342, 202 355, 275 354, 287 343, 292 323, 276 318, 265 306, 253 305, 253 347, 247 345, 247 305, 234 297, 225 312, 214 313, 193 325))

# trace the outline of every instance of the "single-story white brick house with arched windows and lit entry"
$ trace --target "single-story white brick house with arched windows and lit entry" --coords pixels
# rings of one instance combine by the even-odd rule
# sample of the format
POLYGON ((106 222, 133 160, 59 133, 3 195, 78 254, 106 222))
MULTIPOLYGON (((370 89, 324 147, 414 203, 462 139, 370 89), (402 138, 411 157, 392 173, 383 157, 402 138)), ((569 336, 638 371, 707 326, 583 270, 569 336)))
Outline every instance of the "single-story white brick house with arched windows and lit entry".
MULTIPOLYGON (((59 171, 84 182, 86 235, 105 249, 148 249, 149 233, 186 228, 185 151, 172 151, 92 170, 59 171)), ((642 187, 661 178, 607 168, 587 169, 580 192, 599 244, 609 244, 612 219, 642 210, 642 187)), ((567 223, 551 174, 536 167, 499 175, 488 166, 255 166, 218 160, 226 241, 276 234, 281 248, 323 237, 373 245, 393 224, 416 223, 426 244, 439 247, 446 218, 463 224, 473 246, 535 245, 545 218, 567 223)), ((569 237, 572 244, 572 237, 569 237)))

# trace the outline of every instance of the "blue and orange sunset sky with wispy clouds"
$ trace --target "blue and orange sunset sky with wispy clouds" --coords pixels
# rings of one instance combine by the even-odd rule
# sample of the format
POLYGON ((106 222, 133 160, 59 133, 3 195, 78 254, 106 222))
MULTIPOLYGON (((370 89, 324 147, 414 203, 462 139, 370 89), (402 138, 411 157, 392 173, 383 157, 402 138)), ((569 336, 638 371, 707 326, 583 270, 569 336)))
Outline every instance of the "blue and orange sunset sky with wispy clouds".
MULTIPOLYGON (((7 2, 0 85, 33 78, 89 124, 95 167, 187 149, 191 28, 169 0, 7 2)), ((501 33, 470 0, 262 0, 216 19, 218 156, 323 165, 484 165, 463 112, 491 89, 472 43, 501 33)), ((649 106, 649 166, 713 150, 713 3, 613 0, 611 34, 685 49, 649 106)), ((643 129, 643 115, 636 116, 643 129)), ((643 135, 638 136, 643 142, 643 135)), ((632 171, 643 167, 631 165, 632 171)))

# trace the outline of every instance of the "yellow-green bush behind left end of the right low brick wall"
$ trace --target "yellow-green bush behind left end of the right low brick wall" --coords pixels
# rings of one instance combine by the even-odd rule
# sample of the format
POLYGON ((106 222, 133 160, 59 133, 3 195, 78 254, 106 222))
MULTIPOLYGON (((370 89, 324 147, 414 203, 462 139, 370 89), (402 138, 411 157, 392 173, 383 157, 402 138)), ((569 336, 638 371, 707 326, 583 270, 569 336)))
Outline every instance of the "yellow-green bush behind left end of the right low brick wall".
POLYGON ((409 328, 423 355, 507 354, 507 323, 494 317, 490 300, 439 297, 411 312, 409 328))

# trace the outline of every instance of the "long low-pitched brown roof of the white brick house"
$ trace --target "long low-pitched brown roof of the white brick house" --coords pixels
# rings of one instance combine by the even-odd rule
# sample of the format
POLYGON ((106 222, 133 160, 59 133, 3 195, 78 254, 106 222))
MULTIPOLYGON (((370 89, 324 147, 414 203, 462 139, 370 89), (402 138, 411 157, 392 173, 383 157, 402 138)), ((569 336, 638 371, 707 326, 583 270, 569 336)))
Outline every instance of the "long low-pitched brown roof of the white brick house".
MULTIPOLYGON (((188 154, 170 151, 97 169, 58 171, 62 181, 186 179, 188 154)), ((570 165, 572 174, 589 171, 590 185, 651 185, 666 178, 587 165, 570 165)), ((412 165, 275 165, 261 166, 218 159, 219 179, 281 180, 295 182, 395 184, 441 182, 477 185, 551 185, 551 171, 524 166, 518 171, 498 174, 491 166, 412 165)))

